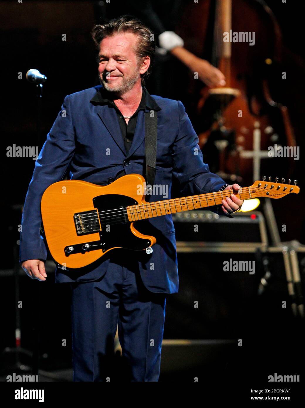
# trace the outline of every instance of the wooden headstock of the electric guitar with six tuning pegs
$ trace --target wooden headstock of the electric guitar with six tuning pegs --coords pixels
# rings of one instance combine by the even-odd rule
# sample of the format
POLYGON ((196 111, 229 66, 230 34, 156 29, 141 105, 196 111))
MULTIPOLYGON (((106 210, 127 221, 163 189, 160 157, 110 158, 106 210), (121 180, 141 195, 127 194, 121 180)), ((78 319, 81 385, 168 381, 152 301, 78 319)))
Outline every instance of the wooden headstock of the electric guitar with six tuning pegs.
POLYGON ((294 180, 294 185, 290 184, 291 180, 288 179, 289 184, 284 184, 285 179, 282 178, 282 182, 278 183, 278 177, 275 177, 275 183, 271 181, 271 177, 268 177, 269 181, 265 181, 266 177, 262 177, 263 181, 257 180, 250 186, 251 197, 269 197, 269 198, 281 198, 284 195, 290 193, 298 194, 300 187, 296 184, 298 180, 294 180))

